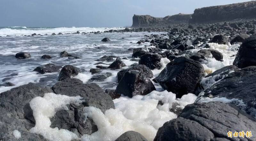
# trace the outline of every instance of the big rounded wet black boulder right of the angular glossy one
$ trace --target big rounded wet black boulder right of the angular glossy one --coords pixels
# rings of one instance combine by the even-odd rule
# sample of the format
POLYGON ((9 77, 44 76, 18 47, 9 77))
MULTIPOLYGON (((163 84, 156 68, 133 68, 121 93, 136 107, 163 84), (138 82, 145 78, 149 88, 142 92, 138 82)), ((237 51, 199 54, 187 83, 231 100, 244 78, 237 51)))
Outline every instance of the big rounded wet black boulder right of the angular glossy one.
POLYGON ((164 90, 176 94, 177 98, 188 93, 196 94, 196 89, 204 76, 204 67, 197 61, 179 57, 168 63, 156 77, 164 90))

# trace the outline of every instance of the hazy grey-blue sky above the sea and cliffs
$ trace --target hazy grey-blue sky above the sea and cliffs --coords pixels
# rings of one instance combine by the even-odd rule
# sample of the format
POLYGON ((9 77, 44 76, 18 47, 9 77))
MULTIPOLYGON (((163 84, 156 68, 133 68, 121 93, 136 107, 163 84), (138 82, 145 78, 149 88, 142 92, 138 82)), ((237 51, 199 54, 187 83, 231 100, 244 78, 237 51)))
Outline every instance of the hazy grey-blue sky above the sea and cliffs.
POLYGON ((164 17, 248 0, 0 0, 0 27, 121 27, 133 14, 164 17))

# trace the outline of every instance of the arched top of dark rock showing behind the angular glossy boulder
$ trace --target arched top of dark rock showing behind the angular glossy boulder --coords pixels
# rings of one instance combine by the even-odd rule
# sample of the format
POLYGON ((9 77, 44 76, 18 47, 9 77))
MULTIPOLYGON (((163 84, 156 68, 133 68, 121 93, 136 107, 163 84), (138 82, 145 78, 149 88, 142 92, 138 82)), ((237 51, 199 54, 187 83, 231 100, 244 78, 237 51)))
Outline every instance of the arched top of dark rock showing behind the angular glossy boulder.
POLYGON ((128 71, 132 71, 132 70, 137 70, 142 72, 145 76, 149 77, 149 78, 153 78, 154 75, 152 73, 152 71, 145 65, 134 65, 130 68, 127 69, 123 69, 121 71, 119 71, 116 75, 117 77, 117 81, 120 82, 120 80, 122 79, 122 77, 124 76, 124 74, 128 71))

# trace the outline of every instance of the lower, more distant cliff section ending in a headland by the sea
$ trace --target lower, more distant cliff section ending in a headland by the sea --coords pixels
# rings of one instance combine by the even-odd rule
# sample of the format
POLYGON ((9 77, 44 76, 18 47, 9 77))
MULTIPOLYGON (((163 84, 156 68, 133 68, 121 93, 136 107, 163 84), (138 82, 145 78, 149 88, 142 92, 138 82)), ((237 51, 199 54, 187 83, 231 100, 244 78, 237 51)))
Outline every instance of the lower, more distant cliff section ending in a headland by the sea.
POLYGON ((188 23, 191 14, 177 14, 166 16, 164 18, 156 18, 150 15, 133 15, 132 27, 160 27, 168 26, 172 23, 188 23))

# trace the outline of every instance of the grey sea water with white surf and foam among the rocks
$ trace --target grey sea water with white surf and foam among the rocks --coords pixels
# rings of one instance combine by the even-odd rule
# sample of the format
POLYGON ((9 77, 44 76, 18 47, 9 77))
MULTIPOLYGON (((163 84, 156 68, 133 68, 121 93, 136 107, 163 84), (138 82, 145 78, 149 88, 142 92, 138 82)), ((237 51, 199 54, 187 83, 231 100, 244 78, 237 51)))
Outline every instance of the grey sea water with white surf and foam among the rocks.
MULTIPOLYGON (((149 45, 150 43, 136 44, 137 41, 144 38, 144 35, 150 34, 163 34, 165 32, 125 32, 125 33, 100 33, 94 34, 89 32, 106 31, 110 29, 123 29, 123 28, 90 28, 90 27, 58 27, 58 28, 31 28, 31 27, 2 27, 0 28, 0 83, 12 82, 15 86, 0 87, 0 93, 10 90, 14 87, 27 84, 29 82, 38 83, 43 86, 51 87, 57 82, 59 72, 38 74, 33 70, 41 65, 53 63, 56 65, 73 65, 79 67, 82 73, 75 76, 86 83, 93 75, 89 72, 91 68, 96 68, 96 59, 104 55, 115 55, 120 58, 127 57, 128 60, 122 61, 130 66, 138 61, 132 61, 132 51, 129 48, 138 48, 149 45), (74 33, 76 31, 86 32, 82 34, 65 34, 74 33), (58 34, 59 32, 65 35, 51 35, 52 33, 58 34), (41 34, 36 36, 33 33, 41 34), (48 34, 48 35, 44 35, 48 34), (10 36, 6 36, 10 35, 10 36), (108 37, 110 42, 101 42, 101 39, 108 37), (131 43, 132 42, 132 43, 131 43), (15 54, 20 51, 26 51, 31 54, 29 59, 16 59, 15 54), (74 58, 61 58, 60 52, 67 51, 74 58), (41 59, 41 56, 47 54, 51 55, 52 59, 41 59)), ((168 36, 164 36, 168 38, 168 36)), ((205 70, 214 72, 222 67, 232 65, 238 44, 235 45, 219 45, 210 43, 210 48, 220 51, 223 54, 223 62, 215 59, 207 59, 202 62, 205 70)), ((198 50, 194 50, 196 52, 198 50)), ((154 76, 158 76, 162 69, 170 61, 166 58, 161 60, 162 68, 160 70, 153 70, 154 76)), ((108 66, 112 62, 104 62, 108 66)), ((128 68, 128 67, 123 67, 128 68)), ((105 79, 102 82, 97 82, 102 89, 115 89, 117 86, 116 74, 119 70, 105 69, 103 72, 110 72, 113 76, 105 79)), ((154 82, 153 82, 154 83, 154 82)), ((214 83, 214 82, 212 82, 214 83)), ((116 109, 109 109, 102 113, 99 109, 94 107, 87 107, 87 116, 92 118, 98 126, 98 131, 92 135, 84 135, 82 140, 86 141, 100 141, 108 140, 114 141, 117 137, 128 130, 134 130, 141 133, 149 141, 152 141, 156 135, 159 127, 164 122, 176 118, 177 115, 170 112, 170 107, 173 103, 179 103, 180 108, 184 108, 187 104, 195 101, 194 94, 184 95, 182 98, 176 98, 172 92, 164 91, 158 84, 154 83, 157 91, 153 91, 147 96, 135 96, 133 98, 121 97, 114 100, 116 109), (164 105, 157 106, 158 100, 161 100, 164 105)), ((207 84, 208 85, 208 84, 207 84)), ((44 98, 36 98, 31 100, 34 113, 47 111, 39 107, 33 107, 33 103, 41 103, 42 105, 51 105, 54 100, 66 99, 65 101, 71 102, 75 97, 56 96, 53 93, 45 94, 44 98), (49 98, 50 97, 50 98, 49 98), (51 99, 51 100, 49 100, 51 99)), ((68 103, 67 103, 68 104, 68 103)), ((65 103, 57 105, 56 107, 63 107, 65 103)), ((52 110, 52 109, 51 109, 52 110)), ((44 112, 42 112, 44 113, 44 112)), ((86 114, 86 113, 85 113, 86 114)), ((37 115, 35 115, 37 116, 37 115)), ((49 121, 49 118, 54 116, 54 111, 43 117, 36 117, 38 120, 49 121)), ((44 121, 41 121, 44 122, 44 121)), ((40 123, 40 122, 39 122, 40 123)), ((49 123, 49 122, 48 122, 49 123)), ((39 126, 31 130, 33 133, 41 134, 44 137, 49 137, 49 140, 72 140, 77 139, 76 135, 64 129, 51 129, 51 123, 39 126), (44 131, 42 131, 45 129, 44 131), (72 135, 72 136, 71 136, 72 135), (70 137, 68 137, 70 136, 70 137), (51 138, 52 137, 52 138, 51 138)), ((21 135, 22 136, 22 135, 21 135)))

